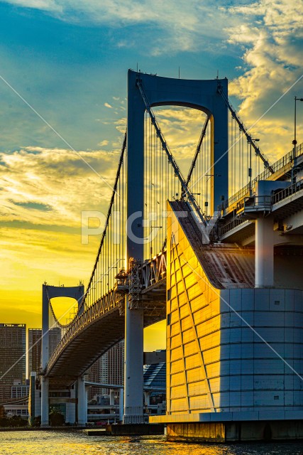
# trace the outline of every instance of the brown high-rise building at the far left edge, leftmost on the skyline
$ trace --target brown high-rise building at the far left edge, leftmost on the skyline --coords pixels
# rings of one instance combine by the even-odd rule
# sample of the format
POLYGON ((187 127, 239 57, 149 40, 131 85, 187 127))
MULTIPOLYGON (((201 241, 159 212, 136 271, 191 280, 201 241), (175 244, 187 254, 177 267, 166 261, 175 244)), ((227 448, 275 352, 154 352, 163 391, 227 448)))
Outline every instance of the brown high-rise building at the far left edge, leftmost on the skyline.
POLYGON ((0 378, 1 403, 11 399, 14 379, 26 380, 26 324, 0 323, 0 378))

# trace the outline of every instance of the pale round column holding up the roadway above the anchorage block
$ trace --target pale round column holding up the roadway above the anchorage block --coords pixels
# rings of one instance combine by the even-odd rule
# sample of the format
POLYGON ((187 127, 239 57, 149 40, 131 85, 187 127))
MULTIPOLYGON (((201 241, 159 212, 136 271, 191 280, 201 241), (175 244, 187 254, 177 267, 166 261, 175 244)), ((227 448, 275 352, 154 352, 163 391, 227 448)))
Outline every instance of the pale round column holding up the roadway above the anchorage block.
POLYGON ((274 245, 272 217, 255 220, 255 287, 274 285, 274 245))

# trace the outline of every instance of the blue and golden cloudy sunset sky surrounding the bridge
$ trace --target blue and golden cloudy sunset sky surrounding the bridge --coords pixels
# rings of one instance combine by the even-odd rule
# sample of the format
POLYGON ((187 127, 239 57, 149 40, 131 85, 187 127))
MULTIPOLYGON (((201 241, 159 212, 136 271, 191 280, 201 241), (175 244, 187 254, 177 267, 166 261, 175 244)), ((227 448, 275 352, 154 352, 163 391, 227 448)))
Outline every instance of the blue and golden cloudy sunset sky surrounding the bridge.
MULTIPOLYGON (((294 0, 0 1, 0 322, 40 326, 43 282, 87 284, 99 237, 82 245, 81 212, 109 203, 128 68, 227 77, 233 105, 275 161, 292 147, 294 95, 303 97, 302 17, 294 0)), ((178 155, 198 137, 181 143, 172 128, 170 144, 178 155)), ((164 347, 161 327, 145 348, 164 347)))

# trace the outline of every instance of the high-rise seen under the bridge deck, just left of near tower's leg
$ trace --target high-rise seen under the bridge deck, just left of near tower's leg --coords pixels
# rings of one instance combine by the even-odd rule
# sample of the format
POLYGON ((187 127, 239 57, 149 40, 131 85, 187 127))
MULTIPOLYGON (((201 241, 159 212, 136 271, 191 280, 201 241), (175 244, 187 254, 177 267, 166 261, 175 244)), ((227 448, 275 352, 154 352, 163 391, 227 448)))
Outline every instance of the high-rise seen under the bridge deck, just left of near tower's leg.
MULTIPOLYGON (((124 380, 124 341, 109 349, 89 368, 88 380, 102 384, 123 385, 124 380)), ((105 387, 91 387, 89 399, 95 395, 109 395, 105 387)))

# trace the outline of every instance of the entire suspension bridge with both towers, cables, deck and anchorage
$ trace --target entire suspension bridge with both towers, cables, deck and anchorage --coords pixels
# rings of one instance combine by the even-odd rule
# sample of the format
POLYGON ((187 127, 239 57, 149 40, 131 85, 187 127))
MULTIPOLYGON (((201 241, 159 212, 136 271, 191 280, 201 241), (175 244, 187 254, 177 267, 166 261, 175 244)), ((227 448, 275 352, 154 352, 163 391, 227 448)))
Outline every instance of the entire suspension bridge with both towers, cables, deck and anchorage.
POLYGON ((163 319, 167 414, 158 421, 172 437, 190 436, 186 422, 204 439, 220 422, 220 437, 236 440, 238 423, 226 422, 241 422, 243 435, 247 421, 257 434, 269 419, 287 431, 302 419, 303 146, 270 163, 256 141, 226 79, 128 71, 127 130, 89 284, 43 285, 42 425, 49 390, 75 382, 85 424, 84 374, 123 338, 123 423, 143 422, 143 328, 163 319), (201 118, 187 175, 155 114, 167 105, 201 118), (55 296, 77 301, 65 326, 55 296), (63 331, 51 356, 49 314, 63 331))

